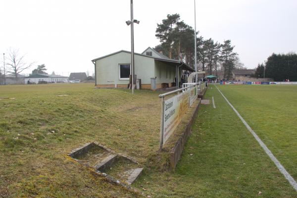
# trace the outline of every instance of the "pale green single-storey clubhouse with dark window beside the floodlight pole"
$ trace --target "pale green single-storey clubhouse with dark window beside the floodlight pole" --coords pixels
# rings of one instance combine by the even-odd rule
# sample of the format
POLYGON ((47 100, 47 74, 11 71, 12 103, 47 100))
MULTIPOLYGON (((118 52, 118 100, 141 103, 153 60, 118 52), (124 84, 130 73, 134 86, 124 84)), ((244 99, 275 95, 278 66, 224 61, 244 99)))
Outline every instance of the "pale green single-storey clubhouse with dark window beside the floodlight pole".
MULTIPOLYGON (((95 65, 97 88, 128 88, 131 74, 130 51, 120 50, 92 61, 95 65)), ((141 79, 142 89, 175 87, 175 79, 181 81, 179 76, 182 71, 194 71, 184 62, 170 59, 150 47, 142 53, 134 53, 134 61, 135 75, 137 79, 141 79)))

